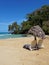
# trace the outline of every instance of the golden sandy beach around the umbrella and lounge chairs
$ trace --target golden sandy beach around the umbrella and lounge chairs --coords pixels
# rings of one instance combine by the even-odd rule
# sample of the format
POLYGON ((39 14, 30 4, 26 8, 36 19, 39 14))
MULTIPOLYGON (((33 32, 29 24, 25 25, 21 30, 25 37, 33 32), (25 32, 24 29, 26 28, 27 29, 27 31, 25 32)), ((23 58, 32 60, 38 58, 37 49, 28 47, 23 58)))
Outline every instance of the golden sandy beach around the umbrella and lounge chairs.
POLYGON ((0 65, 49 65, 49 37, 43 41, 44 49, 23 49, 32 41, 33 37, 0 40, 0 65))

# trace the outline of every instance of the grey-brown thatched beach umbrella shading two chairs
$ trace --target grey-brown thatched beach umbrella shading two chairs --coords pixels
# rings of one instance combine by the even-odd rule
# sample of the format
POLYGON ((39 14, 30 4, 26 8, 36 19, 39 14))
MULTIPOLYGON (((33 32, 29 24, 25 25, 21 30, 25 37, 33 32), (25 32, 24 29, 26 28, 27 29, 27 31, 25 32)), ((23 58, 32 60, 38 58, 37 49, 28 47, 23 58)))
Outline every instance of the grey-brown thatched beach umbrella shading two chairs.
MULTIPOLYGON (((42 39, 45 38, 45 33, 39 25, 31 27, 30 30, 28 31, 28 33, 33 34, 35 37, 35 40, 36 40, 36 37, 40 37, 42 39)), ((37 43, 36 43, 36 46, 37 46, 37 43)))

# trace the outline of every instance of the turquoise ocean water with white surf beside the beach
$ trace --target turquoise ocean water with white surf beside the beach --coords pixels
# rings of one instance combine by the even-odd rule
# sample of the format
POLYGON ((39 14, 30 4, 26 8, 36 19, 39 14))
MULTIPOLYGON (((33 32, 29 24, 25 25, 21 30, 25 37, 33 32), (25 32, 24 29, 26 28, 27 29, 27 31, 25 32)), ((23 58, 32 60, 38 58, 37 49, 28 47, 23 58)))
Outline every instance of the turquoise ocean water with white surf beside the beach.
POLYGON ((26 37, 26 35, 25 34, 10 34, 7 32, 0 33, 0 39, 20 38, 20 37, 26 37))

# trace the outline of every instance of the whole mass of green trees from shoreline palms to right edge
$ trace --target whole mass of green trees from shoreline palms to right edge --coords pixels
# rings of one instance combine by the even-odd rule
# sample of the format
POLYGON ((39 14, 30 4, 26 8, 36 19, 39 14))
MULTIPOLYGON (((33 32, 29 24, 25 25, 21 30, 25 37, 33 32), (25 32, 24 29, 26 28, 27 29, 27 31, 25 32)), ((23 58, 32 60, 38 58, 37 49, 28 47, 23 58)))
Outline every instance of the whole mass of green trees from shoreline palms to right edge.
POLYGON ((39 25, 46 34, 49 34, 49 5, 44 5, 27 14, 26 18, 27 20, 23 21, 20 26, 16 22, 12 23, 8 26, 8 30, 15 34, 27 33, 32 26, 39 25))

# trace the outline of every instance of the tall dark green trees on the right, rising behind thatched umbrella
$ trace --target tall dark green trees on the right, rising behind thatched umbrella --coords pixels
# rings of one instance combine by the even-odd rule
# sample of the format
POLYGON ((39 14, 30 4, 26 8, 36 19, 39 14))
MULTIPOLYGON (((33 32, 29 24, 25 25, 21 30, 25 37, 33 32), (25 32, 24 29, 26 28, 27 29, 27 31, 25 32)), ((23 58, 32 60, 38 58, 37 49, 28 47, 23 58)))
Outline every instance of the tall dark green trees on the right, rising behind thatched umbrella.
POLYGON ((27 20, 32 26, 39 25, 46 34, 49 34, 49 6, 44 5, 40 9, 27 15, 27 20))

